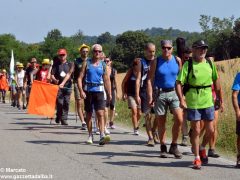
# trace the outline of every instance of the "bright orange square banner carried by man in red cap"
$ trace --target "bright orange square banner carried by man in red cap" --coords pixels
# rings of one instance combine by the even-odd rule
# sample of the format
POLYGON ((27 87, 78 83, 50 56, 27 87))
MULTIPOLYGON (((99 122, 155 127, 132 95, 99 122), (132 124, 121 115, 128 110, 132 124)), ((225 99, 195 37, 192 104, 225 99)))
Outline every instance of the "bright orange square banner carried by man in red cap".
POLYGON ((28 103, 28 114, 53 117, 59 87, 57 85, 34 81, 28 103))

